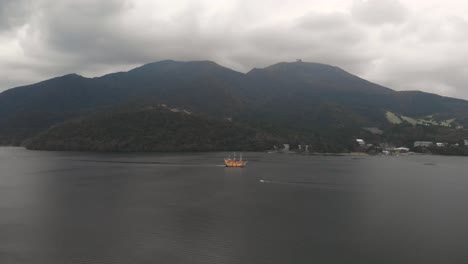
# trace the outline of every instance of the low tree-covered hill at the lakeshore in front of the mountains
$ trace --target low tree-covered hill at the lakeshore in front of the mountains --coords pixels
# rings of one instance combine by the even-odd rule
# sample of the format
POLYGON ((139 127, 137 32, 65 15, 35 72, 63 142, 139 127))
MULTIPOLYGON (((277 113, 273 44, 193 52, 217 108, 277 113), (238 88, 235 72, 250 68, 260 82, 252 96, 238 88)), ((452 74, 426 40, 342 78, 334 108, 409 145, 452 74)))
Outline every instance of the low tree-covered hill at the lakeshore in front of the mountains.
POLYGON ((247 125, 147 107, 68 121, 30 139, 26 146, 77 151, 258 151, 279 142, 247 125))

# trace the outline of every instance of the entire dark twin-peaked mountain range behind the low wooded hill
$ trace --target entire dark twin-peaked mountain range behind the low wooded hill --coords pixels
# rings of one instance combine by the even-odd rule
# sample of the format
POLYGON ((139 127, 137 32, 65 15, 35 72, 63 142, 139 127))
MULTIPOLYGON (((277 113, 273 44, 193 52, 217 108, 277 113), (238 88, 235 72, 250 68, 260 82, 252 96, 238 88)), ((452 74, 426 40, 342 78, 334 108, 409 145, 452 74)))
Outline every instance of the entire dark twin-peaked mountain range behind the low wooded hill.
MULTIPOLYGON (((185 109, 200 122, 229 118, 320 151, 346 151, 353 138, 375 137, 366 127, 384 131, 378 140, 392 140, 385 132, 405 124, 446 127, 459 137, 468 126, 465 100, 394 91, 330 65, 282 62, 243 74, 210 61, 166 60, 97 78, 70 74, 0 93, 0 143, 19 144, 52 133, 47 130, 51 126, 65 136, 69 130, 57 130, 65 126, 62 122, 70 127, 71 120, 122 109, 136 115, 135 109, 155 105, 185 109)), ((80 122, 74 128, 84 133, 82 126, 94 121, 80 122)), ((447 129, 438 131, 447 134, 447 129)), ((425 137, 418 135, 403 141, 425 137)))

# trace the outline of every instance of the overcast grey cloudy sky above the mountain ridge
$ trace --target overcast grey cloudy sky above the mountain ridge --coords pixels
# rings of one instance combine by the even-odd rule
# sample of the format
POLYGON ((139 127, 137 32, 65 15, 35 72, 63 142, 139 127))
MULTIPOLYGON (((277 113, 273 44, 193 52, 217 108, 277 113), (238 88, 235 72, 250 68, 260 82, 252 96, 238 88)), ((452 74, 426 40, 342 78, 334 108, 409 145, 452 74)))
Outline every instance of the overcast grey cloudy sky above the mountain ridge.
POLYGON ((0 0, 0 91, 164 60, 332 64, 468 99, 466 0, 0 0))

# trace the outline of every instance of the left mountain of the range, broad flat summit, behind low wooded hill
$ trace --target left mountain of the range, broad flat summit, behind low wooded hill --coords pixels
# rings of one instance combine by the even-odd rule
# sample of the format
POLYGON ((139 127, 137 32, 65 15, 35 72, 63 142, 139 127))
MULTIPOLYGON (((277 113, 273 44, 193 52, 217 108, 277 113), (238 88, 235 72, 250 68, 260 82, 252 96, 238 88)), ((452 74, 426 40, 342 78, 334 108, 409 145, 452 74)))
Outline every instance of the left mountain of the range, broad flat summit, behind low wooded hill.
POLYGON ((129 72, 69 74, 0 94, 0 138, 16 141, 69 118, 129 102, 162 102, 223 115, 243 107, 233 95, 243 75, 213 62, 161 61, 129 72), (207 98, 216 98, 206 104, 207 98))

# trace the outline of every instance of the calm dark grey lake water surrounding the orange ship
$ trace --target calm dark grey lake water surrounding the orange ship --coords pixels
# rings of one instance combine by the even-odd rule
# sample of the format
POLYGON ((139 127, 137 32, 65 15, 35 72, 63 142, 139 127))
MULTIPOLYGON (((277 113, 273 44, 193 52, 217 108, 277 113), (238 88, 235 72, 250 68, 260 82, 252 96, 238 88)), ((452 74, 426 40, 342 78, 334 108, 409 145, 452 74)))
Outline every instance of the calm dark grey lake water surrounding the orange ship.
POLYGON ((468 159, 0 148, 0 263, 468 263, 468 159))

